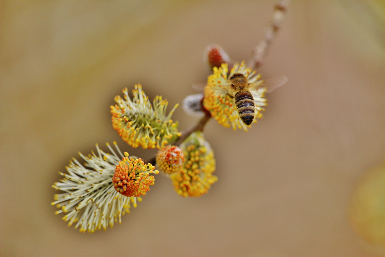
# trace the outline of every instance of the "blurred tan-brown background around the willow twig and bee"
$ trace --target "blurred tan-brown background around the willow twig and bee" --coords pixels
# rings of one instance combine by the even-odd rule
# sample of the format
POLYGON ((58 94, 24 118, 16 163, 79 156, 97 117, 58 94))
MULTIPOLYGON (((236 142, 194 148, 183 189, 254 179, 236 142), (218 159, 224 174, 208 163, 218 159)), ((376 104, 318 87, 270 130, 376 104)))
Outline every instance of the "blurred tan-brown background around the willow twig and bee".
MULTIPOLYGON (((363 174, 384 161, 382 1, 294 1, 259 70, 289 82, 248 133, 211 120, 219 177, 182 198, 156 176, 143 202, 106 232, 68 228, 51 206, 77 151, 116 140, 109 106, 141 82, 170 106, 205 81, 204 47, 249 57, 273 0, 0 2, 0 255, 384 256, 352 228, 363 174)), ((196 121, 178 108, 180 129, 196 121)), ((79 159, 78 159, 79 160, 79 159)))

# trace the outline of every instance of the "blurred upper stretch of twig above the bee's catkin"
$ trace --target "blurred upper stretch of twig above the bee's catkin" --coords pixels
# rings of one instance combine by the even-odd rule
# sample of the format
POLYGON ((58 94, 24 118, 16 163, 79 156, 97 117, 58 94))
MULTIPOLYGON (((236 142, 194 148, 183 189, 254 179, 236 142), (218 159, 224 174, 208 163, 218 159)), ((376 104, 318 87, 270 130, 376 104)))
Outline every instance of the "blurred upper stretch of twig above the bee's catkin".
POLYGON ((263 38, 261 42, 259 42, 259 44, 254 48, 253 52, 251 52, 251 57, 248 62, 249 67, 258 69, 262 66, 269 46, 271 45, 271 42, 273 42, 275 35, 282 26, 285 12, 290 2, 291 0, 280 0, 274 5, 273 16, 266 26, 263 38))

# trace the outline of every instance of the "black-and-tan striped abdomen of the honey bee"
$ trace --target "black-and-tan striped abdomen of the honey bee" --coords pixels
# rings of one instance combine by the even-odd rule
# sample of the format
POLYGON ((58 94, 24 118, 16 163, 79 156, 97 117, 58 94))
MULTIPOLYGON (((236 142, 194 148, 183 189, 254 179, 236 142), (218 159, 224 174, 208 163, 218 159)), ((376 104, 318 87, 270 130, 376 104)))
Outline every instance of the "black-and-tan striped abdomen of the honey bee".
POLYGON ((253 95, 249 91, 236 92, 234 102, 239 118, 241 118, 244 124, 250 125, 254 120, 255 112, 253 95))

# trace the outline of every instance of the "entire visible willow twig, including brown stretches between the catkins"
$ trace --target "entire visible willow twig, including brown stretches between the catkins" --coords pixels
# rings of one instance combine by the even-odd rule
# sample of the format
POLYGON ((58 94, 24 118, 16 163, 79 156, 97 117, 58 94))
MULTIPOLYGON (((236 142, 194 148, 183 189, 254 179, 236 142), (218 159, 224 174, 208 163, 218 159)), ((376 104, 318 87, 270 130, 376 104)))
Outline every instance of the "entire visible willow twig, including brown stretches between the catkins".
MULTIPOLYGON (((290 2, 291 0, 280 0, 274 5, 273 16, 271 17, 270 22, 266 26, 263 39, 261 40, 261 42, 259 42, 259 44, 254 48, 253 52, 251 53, 251 58, 248 62, 249 67, 254 67, 254 69, 258 69, 262 66, 264 57, 266 57, 267 54, 267 50, 269 49, 271 42, 273 42, 273 39, 277 34, 278 30, 282 26, 283 18, 290 2)), ((189 136, 192 132, 203 131, 204 126, 209 121, 211 116, 203 108, 203 106, 202 110, 204 111, 205 116, 199 119, 198 123, 196 123, 191 128, 182 131, 181 136, 178 138, 177 141, 172 143, 172 145, 179 146, 184 141, 184 139, 186 139, 187 136, 189 136)), ((156 157, 153 157, 151 160, 148 161, 148 163, 155 165, 156 157)))

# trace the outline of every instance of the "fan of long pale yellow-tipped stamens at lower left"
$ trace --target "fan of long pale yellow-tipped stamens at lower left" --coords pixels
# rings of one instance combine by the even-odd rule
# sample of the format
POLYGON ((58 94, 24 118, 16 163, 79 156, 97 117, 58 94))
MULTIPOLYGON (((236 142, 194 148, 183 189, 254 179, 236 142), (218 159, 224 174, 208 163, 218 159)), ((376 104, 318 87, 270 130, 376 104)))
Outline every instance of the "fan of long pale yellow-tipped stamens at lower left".
POLYGON ((115 141, 114 145, 121 157, 108 143, 112 155, 96 145, 97 154, 92 152, 92 155, 84 156, 79 153, 84 165, 73 158, 66 166, 67 173, 59 172, 64 178, 52 186, 64 192, 54 195, 55 201, 51 204, 61 208, 55 214, 66 213, 62 219, 68 226, 75 224, 80 232, 94 233, 102 228, 106 230, 108 225, 112 228, 114 222, 122 222, 122 215, 130 213, 131 203, 136 207, 137 202, 142 201, 141 197, 125 197, 114 190, 114 170, 124 158, 115 141))

